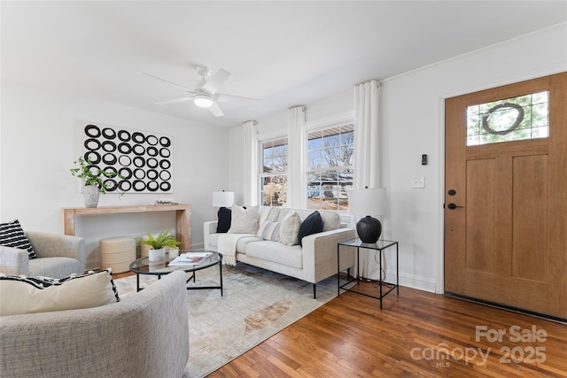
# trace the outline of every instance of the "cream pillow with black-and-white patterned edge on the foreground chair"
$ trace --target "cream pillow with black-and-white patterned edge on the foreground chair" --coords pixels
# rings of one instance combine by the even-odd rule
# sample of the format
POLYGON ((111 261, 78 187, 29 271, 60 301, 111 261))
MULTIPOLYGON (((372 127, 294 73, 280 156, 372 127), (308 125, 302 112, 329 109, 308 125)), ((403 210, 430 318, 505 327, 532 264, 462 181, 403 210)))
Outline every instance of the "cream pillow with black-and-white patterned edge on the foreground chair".
POLYGON ((120 301, 109 269, 66 278, 0 277, 0 316, 75 310, 120 301))

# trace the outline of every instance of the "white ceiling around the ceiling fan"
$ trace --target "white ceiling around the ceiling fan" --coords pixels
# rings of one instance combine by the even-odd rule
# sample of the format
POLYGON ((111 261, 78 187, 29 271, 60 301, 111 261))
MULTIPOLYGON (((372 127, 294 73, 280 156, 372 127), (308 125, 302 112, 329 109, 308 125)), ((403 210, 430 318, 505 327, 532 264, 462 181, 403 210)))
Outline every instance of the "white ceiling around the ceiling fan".
MULTIPOLYGON (((567 1, 6 2, 2 80, 234 127, 567 20, 567 1), (232 76, 215 118, 193 88, 232 76)), ((526 51, 526 54, 529 54, 526 51)), ((466 73, 463 73, 466 74, 466 73)))

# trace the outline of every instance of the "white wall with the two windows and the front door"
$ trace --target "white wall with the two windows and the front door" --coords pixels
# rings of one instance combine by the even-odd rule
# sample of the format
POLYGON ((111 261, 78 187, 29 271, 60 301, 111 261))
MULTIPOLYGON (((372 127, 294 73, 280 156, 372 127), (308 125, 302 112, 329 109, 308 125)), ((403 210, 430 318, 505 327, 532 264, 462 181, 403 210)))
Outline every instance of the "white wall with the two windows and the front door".
MULTIPOLYGON (((400 284, 443 292, 444 99, 566 70, 567 25, 562 25, 382 82, 381 167, 390 197, 383 235, 400 242, 400 284), (421 165, 422 154, 428 155, 427 166, 421 165), (425 177, 424 189, 410 188, 414 176, 425 177)), ((353 110, 352 89, 305 105, 308 123, 344 115, 353 110)), ((258 120, 259 134, 277 133, 285 120, 285 112, 258 120)), ((240 129, 230 132, 242 140, 240 129)), ((230 156, 231 171, 241 172, 237 143, 230 156)), ((231 176, 232 189, 241 193, 242 185, 231 176)), ((389 278, 394 261, 386 261, 389 278)))

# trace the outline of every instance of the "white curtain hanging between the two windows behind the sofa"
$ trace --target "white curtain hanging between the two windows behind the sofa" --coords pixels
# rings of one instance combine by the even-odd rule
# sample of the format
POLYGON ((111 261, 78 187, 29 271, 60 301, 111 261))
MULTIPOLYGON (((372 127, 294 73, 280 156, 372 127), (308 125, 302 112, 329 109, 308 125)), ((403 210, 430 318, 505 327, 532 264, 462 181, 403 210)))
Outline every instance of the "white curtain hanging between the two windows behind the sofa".
POLYGON ((305 107, 295 106, 287 112, 287 207, 304 209, 306 205, 305 107))

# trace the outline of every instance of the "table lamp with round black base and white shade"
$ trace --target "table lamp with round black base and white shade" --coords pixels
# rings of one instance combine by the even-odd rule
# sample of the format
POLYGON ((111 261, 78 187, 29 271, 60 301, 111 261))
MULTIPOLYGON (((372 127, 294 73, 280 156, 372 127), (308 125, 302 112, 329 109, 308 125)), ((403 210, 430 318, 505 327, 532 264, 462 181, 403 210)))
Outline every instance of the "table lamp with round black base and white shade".
POLYGON ((368 214, 356 222, 356 233, 362 243, 376 243, 382 234, 382 223, 371 215, 385 212, 386 189, 350 189, 348 212, 353 215, 368 214))

